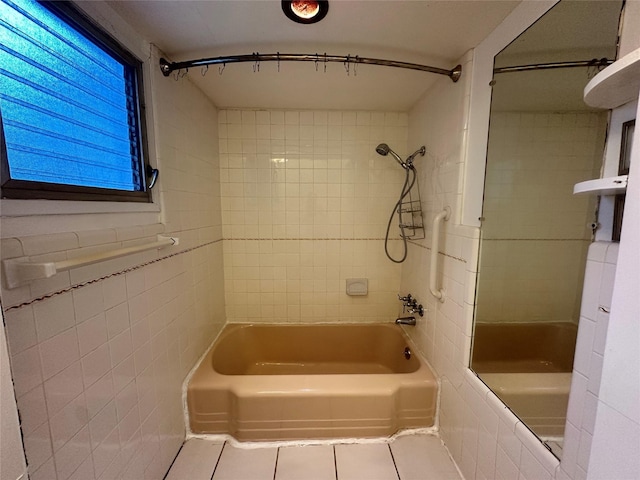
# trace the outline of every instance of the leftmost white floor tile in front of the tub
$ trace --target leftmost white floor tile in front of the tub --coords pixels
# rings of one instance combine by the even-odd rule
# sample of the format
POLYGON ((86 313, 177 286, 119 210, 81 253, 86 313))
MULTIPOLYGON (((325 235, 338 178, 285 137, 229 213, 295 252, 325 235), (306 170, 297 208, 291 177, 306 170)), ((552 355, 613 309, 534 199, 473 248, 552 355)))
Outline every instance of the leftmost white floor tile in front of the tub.
POLYGON ((192 438, 180 450, 165 480, 211 480, 223 443, 192 438))

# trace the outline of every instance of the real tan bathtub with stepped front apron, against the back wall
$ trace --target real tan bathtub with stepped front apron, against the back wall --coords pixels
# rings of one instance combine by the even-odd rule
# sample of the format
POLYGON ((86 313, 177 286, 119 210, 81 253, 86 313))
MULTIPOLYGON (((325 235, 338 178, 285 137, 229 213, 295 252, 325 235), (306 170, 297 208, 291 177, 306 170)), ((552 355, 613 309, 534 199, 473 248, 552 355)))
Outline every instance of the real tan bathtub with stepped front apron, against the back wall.
POLYGON ((193 433, 379 437, 434 424, 437 383, 393 324, 227 325, 187 386, 193 433))

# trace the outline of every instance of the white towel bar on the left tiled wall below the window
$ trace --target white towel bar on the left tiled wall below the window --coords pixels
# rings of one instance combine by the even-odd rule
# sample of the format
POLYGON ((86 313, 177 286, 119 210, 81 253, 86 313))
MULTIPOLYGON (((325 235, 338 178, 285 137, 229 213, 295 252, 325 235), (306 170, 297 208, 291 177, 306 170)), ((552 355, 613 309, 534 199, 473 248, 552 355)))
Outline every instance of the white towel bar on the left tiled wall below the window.
POLYGON ((132 247, 117 248, 106 252, 92 253, 69 260, 58 262, 31 262, 29 257, 10 258, 2 261, 4 267, 5 283, 7 288, 15 288, 23 283, 41 278, 49 278, 56 273, 64 272, 72 268, 93 265, 94 263, 124 257, 133 253, 146 252, 147 250, 159 249, 178 245, 179 239, 176 237, 158 236, 155 242, 134 245, 132 247))

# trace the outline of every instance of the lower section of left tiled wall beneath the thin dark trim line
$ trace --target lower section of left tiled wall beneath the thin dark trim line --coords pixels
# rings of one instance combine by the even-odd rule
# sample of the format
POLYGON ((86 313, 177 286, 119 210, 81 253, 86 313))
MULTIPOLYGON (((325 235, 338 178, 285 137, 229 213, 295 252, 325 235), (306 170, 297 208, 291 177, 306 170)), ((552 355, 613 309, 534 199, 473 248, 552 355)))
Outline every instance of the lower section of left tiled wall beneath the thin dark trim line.
MULTIPOLYGON (((174 257, 181 261, 166 269, 140 269, 155 277, 148 289, 127 294, 128 278, 118 275, 74 289, 73 297, 63 293, 22 308, 8 306, 7 334, 30 472, 37 476, 42 468, 45 478, 69 478, 85 461, 91 476, 79 478, 122 471, 141 460, 143 429, 152 432, 156 449, 151 451, 166 471, 184 435, 182 378, 224 321, 221 295, 209 294, 207 300, 202 294, 222 291, 221 275, 210 269, 196 280, 193 266, 221 264, 221 246, 217 242, 181 254, 174 257), (96 288, 101 284, 105 288, 96 288), (123 300, 122 294, 123 302, 105 309, 123 300), (80 299, 76 308, 73 299, 80 299), (196 301, 203 302, 202 309, 193 305, 196 301), (138 302, 144 308, 135 306, 138 302), (76 318, 94 313, 88 305, 104 310, 76 325, 76 318), (21 323, 24 319, 29 328, 21 323), (35 328, 36 338, 34 323, 42 326, 35 328), (165 423, 164 416, 173 419, 165 423), (52 456, 57 476, 44 473, 52 456)), ((171 260, 155 265, 165 262, 171 260)))

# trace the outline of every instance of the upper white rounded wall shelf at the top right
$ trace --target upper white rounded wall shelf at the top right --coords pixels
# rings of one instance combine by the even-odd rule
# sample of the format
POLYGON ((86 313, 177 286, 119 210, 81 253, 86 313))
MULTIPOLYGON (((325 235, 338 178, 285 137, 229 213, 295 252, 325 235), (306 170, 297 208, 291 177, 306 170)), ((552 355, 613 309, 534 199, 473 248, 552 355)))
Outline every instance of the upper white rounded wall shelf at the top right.
POLYGON ((640 48, 593 77, 584 87, 584 101, 596 108, 616 108, 638 99, 640 48))

